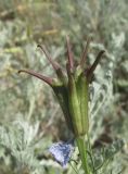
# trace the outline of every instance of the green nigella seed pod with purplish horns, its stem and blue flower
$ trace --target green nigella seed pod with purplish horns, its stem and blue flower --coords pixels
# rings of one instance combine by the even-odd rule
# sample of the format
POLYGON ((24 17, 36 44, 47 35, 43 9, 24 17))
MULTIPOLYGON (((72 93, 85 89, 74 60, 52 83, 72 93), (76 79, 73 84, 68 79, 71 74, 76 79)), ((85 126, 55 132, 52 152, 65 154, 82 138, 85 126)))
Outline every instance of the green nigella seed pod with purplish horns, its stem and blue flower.
MULTIPOLYGON (((88 166, 87 162, 87 146, 85 144, 85 135, 88 135, 89 130, 89 115, 88 115, 89 84, 91 82, 95 67, 99 64, 102 54, 104 53, 103 50, 100 51, 93 64, 87 67, 86 62, 87 62, 87 52, 89 48, 89 42, 90 39, 88 39, 87 41, 79 64, 75 66, 69 38, 66 37, 67 63, 65 71, 63 71, 63 69, 57 62, 54 62, 52 60, 52 58, 50 57, 49 52, 46 50, 44 47, 38 46, 43 51, 49 62, 53 66, 56 73, 56 78, 50 78, 43 76, 31 70, 18 71, 18 73, 24 72, 37 78, 40 78, 41 80, 46 82, 49 86, 52 87, 56 98, 59 99, 67 126, 74 134, 76 145, 79 149, 82 167, 86 174, 91 173, 91 170, 88 166)), ((51 149, 51 152, 55 157, 56 161, 61 162, 62 165, 65 165, 66 162, 68 162, 69 160, 71 150, 69 146, 67 145, 60 144, 53 147, 51 149), (68 150, 66 150, 65 147, 68 150), (61 156, 63 156, 64 151, 67 154, 68 151, 67 159, 61 159, 61 161, 59 161, 59 159, 56 159, 57 154, 55 154, 55 151, 57 153, 61 152, 61 156)))

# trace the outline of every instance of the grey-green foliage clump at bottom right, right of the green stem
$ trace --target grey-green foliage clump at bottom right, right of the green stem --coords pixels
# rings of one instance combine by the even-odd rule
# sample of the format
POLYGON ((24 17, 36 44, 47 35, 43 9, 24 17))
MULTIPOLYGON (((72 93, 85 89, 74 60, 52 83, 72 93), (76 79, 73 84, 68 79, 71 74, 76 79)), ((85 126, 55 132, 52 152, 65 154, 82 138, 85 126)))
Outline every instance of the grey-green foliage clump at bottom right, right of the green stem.
POLYGON ((89 159, 91 169, 93 173, 97 174, 110 174, 113 171, 114 174, 117 174, 123 171, 123 162, 118 165, 116 164, 116 159, 121 154, 120 151, 124 148, 124 141, 116 139, 111 145, 103 145, 102 148, 93 149, 93 165, 89 159), (115 166, 114 166, 115 165, 115 166))

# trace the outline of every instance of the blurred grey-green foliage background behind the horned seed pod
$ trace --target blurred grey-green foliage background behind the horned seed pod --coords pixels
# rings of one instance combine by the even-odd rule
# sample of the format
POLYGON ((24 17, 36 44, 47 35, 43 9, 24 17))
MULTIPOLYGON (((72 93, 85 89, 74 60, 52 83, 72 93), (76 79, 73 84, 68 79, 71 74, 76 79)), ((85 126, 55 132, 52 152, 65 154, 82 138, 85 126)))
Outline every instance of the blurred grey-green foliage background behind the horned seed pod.
POLYGON ((37 45, 46 45, 52 59, 65 67, 66 35, 69 35, 76 62, 88 37, 91 37, 88 64, 101 49, 106 51, 93 77, 94 87, 103 92, 97 99, 98 105, 90 111, 93 115, 90 134, 93 147, 117 138, 125 141, 113 166, 119 165, 124 174, 128 173, 128 1, 0 0, 1 144, 4 139, 0 148, 0 174, 74 173, 69 169, 63 171, 48 153, 52 142, 69 138, 52 89, 39 79, 17 73, 20 69, 30 69, 54 77, 37 45), (99 105, 100 111, 95 112, 99 105), (26 139, 31 136, 31 161, 26 158, 28 149, 24 158, 16 153, 15 146, 21 142, 22 147, 21 138, 25 136, 26 139), (41 169, 37 161, 41 162, 41 169))

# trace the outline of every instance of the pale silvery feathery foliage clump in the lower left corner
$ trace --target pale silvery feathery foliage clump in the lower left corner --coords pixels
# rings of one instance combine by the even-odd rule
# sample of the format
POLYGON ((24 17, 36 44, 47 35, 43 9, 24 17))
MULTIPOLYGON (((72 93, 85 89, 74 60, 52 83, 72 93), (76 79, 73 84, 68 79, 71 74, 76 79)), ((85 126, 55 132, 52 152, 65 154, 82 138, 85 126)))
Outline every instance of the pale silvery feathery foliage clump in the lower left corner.
POLYGON ((15 121, 10 125, 0 126, 0 145, 10 150, 17 170, 39 167, 35 157, 36 136, 39 123, 30 125, 25 121, 15 121))

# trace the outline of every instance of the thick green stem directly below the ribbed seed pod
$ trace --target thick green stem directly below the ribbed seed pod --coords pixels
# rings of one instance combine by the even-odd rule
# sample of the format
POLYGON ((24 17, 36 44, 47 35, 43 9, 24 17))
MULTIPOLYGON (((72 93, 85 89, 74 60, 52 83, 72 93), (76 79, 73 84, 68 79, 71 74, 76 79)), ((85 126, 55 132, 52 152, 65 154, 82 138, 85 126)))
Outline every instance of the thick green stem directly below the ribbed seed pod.
POLYGON ((80 154, 80 159, 81 159, 81 163, 82 163, 82 167, 86 174, 91 174, 91 171, 89 169, 88 165, 88 161, 87 161, 87 147, 85 144, 85 137, 77 137, 76 138, 76 142, 77 142, 77 147, 79 150, 79 154, 80 154))

